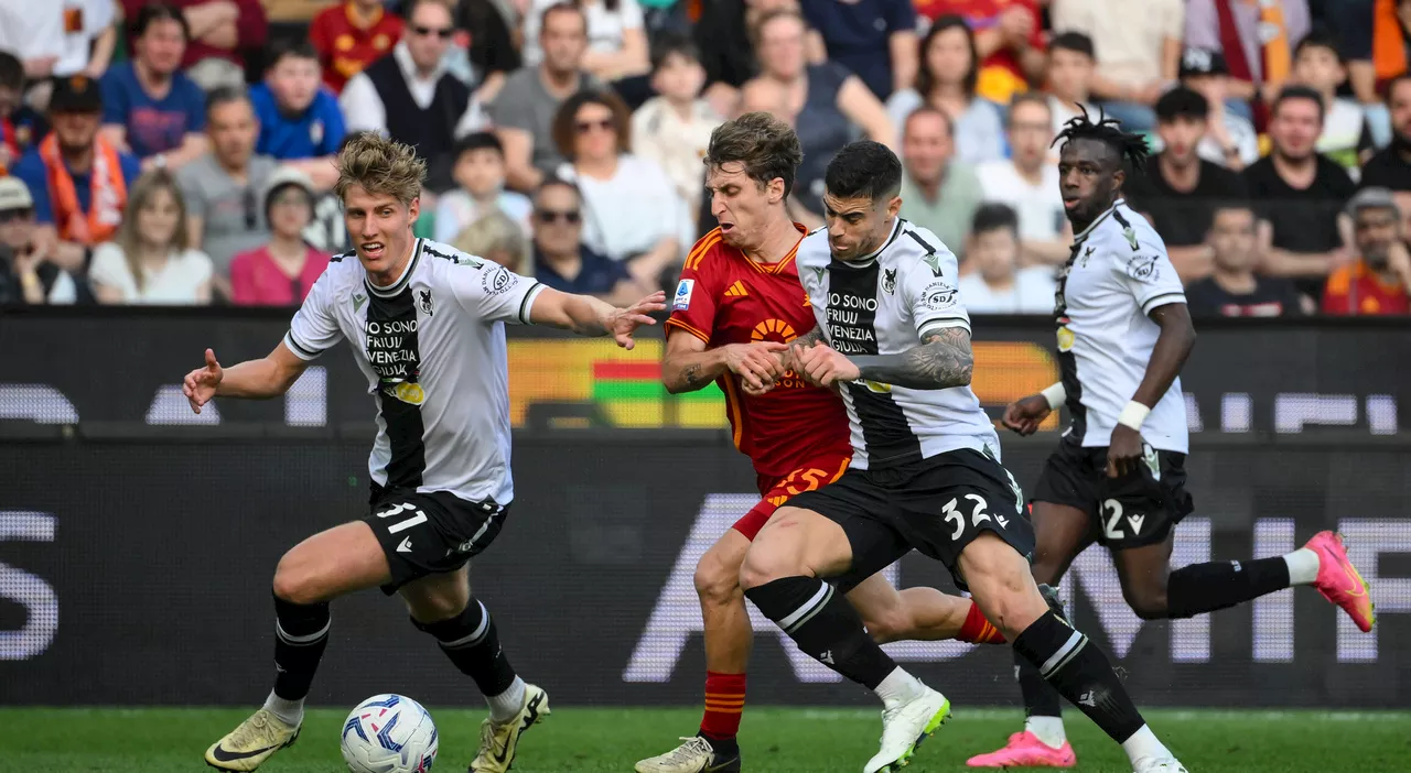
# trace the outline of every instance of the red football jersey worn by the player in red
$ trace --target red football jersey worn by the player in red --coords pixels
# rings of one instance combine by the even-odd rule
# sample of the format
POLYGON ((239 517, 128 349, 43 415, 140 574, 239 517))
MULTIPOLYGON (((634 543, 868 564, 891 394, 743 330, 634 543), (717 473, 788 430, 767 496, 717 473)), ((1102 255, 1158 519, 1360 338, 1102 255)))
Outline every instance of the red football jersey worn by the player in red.
MULTIPOLYGON (((806 229, 794 226, 801 240, 806 229)), ((813 330, 813 308, 794 264, 797 250, 796 244, 776 264, 759 264, 721 241, 720 229, 706 234, 686 258, 666 326, 711 348, 792 341, 813 330)), ((832 391, 810 386, 793 371, 761 396, 746 395, 732 372, 715 382, 725 392, 735 447, 749 457, 756 473, 786 475, 821 454, 852 453, 848 415, 832 391)))

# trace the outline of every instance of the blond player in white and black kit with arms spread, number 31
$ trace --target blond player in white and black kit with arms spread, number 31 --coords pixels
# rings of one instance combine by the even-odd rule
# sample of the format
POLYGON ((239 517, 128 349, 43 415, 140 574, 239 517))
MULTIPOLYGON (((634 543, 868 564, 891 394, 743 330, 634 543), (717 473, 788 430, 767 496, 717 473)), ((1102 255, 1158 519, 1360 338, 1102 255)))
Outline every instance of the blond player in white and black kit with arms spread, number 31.
POLYGON ((566 295, 494 262, 412 237, 426 165, 413 148, 360 137, 339 154, 337 193, 354 252, 313 285, 284 341, 262 360, 186 377, 192 409, 216 396, 272 398, 341 339, 377 399, 368 513, 284 554, 274 574, 275 683, 264 707, 206 750, 222 770, 254 770, 293 743, 303 698, 329 639, 329 601, 381 585, 406 602, 490 704, 473 773, 504 773, 519 734, 549 712, 499 646, 470 594, 467 561, 499 533, 514 499, 505 323, 584 336, 632 333, 665 309, 653 293, 629 309, 566 295))

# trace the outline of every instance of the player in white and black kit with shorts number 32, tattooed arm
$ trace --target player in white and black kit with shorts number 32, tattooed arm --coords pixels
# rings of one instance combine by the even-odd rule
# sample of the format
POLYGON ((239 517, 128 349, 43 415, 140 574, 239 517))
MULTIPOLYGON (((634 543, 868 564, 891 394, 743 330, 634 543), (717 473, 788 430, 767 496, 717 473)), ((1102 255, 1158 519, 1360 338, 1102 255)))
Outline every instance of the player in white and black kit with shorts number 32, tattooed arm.
POLYGON ((824 183, 828 226, 796 258, 818 327, 789 365, 842 392, 855 453, 837 482, 789 499, 759 532, 741 568, 745 595, 803 652, 882 700, 882 748, 865 773, 906 765, 950 701, 900 669, 825 580, 848 587, 912 549, 944 563, 1015 650, 1123 743, 1137 772, 1184 773, 1108 657, 1048 608, 1030 576, 1023 495, 969 388, 955 255, 897 217, 902 162, 885 145, 854 142, 824 183))

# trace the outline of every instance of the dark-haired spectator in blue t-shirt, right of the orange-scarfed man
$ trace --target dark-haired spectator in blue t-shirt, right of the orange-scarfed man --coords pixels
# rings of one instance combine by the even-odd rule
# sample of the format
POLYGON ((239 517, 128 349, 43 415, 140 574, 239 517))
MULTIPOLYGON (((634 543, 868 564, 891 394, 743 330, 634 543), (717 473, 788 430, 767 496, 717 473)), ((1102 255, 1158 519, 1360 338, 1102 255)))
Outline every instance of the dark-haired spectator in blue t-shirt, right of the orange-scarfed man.
POLYGON ((134 58, 103 76, 103 131, 144 169, 179 169, 206 152, 206 96, 181 72, 186 38, 186 20, 174 6, 141 6, 134 58))

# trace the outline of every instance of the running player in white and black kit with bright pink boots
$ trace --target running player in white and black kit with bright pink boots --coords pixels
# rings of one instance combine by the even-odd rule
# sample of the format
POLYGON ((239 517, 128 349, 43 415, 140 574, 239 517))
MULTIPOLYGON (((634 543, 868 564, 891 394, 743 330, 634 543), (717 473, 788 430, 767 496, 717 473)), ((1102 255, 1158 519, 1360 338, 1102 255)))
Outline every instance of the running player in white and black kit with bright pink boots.
MULTIPOLYGON (((1188 618, 1315 585, 1370 631, 1366 584, 1332 532, 1287 556, 1170 571, 1173 529, 1192 508, 1178 374, 1195 330, 1161 237, 1122 200, 1127 169, 1144 165, 1146 140, 1086 113, 1058 140, 1064 207, 1078 234, 1054 299, 1062 381, 1015 402, 1003 419, 1020 434, 1060 405, 1071 419, 1034 489, 1034 578, 1057 585, 1096 542, 1112 552, 1122 595, 1143 619, 1188 618)), ((1017 666, 1026 728, 969 765, 1072 766, 1058 695, 1024 659, 1017 666)))

